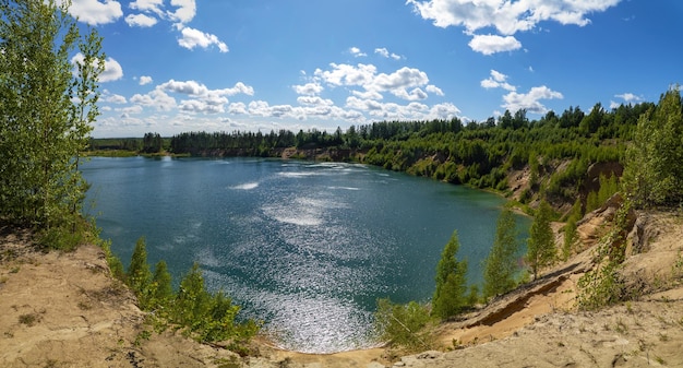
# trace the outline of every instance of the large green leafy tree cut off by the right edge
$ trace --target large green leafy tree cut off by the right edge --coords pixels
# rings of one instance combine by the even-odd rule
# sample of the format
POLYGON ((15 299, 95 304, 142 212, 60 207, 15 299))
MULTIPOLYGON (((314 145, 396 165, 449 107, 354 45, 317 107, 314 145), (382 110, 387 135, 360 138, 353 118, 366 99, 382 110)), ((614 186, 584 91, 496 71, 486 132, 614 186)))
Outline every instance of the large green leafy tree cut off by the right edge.
POLYGON ((624 188, 636 206, 683 201, 683 104, 679 87, 640 115, 626 151, 624 188))

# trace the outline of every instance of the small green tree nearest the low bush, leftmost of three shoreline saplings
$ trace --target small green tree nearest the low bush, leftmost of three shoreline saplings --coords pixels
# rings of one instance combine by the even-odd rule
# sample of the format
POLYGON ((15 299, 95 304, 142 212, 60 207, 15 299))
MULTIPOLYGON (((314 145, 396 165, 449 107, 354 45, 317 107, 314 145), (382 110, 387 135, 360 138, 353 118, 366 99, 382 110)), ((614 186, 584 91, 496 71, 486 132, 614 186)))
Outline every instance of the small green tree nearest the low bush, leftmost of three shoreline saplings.
POLYGON ((457 232, 453 232, 436 265, 436 290, 432 298, 432 316, 443 320, 459 313, 466 306, 467 262, 456 259, 459 248, 457 232))

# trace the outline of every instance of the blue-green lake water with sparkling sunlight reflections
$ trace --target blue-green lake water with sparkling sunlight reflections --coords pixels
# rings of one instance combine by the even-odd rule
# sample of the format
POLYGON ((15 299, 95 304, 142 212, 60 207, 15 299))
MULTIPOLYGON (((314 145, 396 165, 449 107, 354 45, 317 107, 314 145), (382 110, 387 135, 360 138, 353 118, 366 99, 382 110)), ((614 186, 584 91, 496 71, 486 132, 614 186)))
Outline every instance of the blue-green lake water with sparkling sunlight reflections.
POLYGON ((95 157, 83 174, 86 212, 124 264, 145 236, 149 263, 166 260, 176 284, 197 262, 275 343, 308 353, 375 344, 378 298, 429 300, 454 229, 480 284, 504 202, 354 164, 95 157))

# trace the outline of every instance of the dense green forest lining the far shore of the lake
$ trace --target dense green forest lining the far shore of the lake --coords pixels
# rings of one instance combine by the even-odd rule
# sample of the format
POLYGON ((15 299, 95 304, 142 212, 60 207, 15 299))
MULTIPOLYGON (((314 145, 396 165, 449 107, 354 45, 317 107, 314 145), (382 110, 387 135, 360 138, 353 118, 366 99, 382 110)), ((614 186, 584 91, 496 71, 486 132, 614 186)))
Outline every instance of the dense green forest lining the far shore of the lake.
MULTIPOLYGON (((638 118, 657 105, 621 105, 607 110, 596 104, 588 112, 570 107, 538 120, 526 110, 505 111, 483 122, 460 119, 378 121, 335 132, 316 129, 262 132, 184 132, 171 138, 147 133, 141 139, 93 140, 92 150, 166 151, 191 156, 279 157, 295 147, 295 157, 331 152, 327 159, 358 162, 452 183, 508 190, 514 170, 530 170, 523 203, 542 191, 555 207, 572 204, 587 192, 590 165, 623 163, 638 118)), ((621 174, 621 173, 619 173, 621 174)), ((598 188, 594 188, 598 190, 598 188)))

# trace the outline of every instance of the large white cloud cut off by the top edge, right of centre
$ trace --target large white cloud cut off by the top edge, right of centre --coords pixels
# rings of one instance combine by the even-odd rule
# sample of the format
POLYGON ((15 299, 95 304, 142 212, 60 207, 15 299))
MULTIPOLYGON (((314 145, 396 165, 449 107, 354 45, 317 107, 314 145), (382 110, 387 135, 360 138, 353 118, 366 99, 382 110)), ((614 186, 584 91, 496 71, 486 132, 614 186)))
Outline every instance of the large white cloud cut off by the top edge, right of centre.
POLYGON ((540 22, 584 26, 586 16, 603 12, 621 0, 408 0, 416 13, 435 26, 463 26, 468 33, 494 27, 500 34, 529 31, 540 22))

